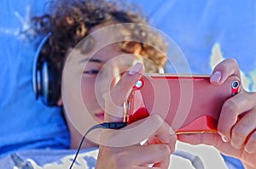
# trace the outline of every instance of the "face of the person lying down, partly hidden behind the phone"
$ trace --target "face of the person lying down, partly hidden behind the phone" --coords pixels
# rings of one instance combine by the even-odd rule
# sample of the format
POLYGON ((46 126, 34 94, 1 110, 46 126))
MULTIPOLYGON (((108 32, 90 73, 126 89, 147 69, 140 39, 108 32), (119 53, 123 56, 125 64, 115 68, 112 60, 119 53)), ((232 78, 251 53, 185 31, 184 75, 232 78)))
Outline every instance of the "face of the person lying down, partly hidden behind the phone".
MULTIPOLYGON (((104 45, 108 33, 93 33, 73 48, 62 75, 62 99, 69 121, 80 133, 104 119, 104 95, 142 56, 127 54, 119 42, 104 45)), ((148 63, 148 62, 147 62, 148 63)))

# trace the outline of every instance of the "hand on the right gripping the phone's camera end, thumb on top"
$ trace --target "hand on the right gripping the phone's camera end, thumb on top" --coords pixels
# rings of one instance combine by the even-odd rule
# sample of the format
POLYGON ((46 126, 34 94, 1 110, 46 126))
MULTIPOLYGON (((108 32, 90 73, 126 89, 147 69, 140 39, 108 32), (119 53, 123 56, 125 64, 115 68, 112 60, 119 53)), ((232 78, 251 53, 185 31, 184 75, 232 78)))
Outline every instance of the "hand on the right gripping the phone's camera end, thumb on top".
MULTIPOLYGON (((213 70, 211 82, 222 84, 229 76, 239 76, 235 59, 225 59, 213 70)), ((256 93, 241 92, 226 100, 218 120, 218 133, 179 135, 189 144, 213 145, 225 155, 239 158, 247 168, 256 164, 256 93)))

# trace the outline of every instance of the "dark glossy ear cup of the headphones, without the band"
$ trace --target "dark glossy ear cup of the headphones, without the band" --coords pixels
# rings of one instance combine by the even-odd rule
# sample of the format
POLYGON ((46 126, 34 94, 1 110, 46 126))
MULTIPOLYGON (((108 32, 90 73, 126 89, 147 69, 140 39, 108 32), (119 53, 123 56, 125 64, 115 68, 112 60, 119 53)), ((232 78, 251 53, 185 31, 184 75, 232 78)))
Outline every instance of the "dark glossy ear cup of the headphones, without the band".
POLYGON ((61 97, 61 78, 55 65, 44 60, 40 70, 40 79, 38 79, 40 90, 38 91, 40 99, 46 105, 57 105, 61 97))

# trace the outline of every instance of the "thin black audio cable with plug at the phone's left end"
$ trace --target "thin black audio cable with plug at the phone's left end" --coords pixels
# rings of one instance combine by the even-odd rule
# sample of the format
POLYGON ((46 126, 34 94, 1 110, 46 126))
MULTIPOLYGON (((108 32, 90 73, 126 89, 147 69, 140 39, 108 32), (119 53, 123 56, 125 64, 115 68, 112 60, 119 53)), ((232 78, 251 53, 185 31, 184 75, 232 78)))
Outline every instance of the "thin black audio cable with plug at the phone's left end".
POLYGON ((79 144, 79 149, 77 150, 77 153, 72 161, 72 164, 70 165, 69 169, 72 169, 74 162, 76 161, 78 155, 79 155, 79 150, 81 149, 82 144, 84 143, 84 139, 87 136, 89 132, 96 128, 103 128, 103 129, 120 129, 127 126, 127 122, 103 122, 102 124, 96 124, 93 127, 90 127, 87 132, 84 133, 84 137, 82 138, 80 144, 79 144))

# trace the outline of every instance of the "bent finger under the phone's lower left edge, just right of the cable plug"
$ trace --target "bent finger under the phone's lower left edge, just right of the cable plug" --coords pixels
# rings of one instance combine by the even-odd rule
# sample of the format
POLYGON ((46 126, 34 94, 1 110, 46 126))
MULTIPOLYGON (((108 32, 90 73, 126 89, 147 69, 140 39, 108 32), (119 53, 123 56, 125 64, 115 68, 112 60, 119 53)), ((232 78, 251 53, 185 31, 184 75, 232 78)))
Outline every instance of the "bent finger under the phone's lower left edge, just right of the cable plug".
POLYGON ((124 147, 139 144, 152 136, 159 139, 160 143, 167 144, 174 151, 176 135, 173 134, 172 128, 164 123, 160 115, 150 115, 120 130, 102 132, 102 144, 113 147, 124 147))

